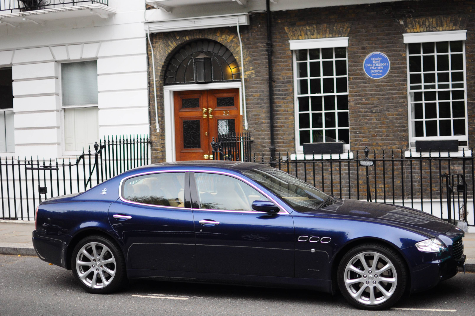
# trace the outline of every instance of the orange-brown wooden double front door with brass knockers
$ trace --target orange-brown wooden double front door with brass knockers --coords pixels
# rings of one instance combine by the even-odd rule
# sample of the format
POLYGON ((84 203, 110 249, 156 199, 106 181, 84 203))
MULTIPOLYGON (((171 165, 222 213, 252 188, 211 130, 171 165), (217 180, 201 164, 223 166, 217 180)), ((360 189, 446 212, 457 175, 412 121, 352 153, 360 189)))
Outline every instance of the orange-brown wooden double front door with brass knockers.
POLYGON ((174 103, 176 161, 213 159, 213 137, 242 131, 239 89, 177 91, 174 103))

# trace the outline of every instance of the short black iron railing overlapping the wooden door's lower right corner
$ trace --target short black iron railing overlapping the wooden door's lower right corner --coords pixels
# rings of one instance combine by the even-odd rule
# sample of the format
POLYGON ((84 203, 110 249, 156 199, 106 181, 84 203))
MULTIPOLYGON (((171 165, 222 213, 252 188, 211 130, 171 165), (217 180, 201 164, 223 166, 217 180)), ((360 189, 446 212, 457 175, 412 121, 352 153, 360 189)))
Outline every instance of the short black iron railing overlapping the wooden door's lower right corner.
POLYGON ((250 161, 251 143, 253 139, 248 133, 228 133, 218 135, 213 138, 211 148, 213 148, 214 160, 250 161))

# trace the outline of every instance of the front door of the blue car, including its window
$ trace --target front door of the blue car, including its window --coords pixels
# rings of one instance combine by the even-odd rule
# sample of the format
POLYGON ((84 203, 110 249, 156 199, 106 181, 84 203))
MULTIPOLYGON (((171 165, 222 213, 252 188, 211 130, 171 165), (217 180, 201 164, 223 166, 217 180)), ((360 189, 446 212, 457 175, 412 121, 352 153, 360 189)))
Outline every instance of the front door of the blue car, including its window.
POLYGON ((282 210, 256 212, 269 199, 238 176, 190 172, 197 272, 294 277, 294 222, 282 210))

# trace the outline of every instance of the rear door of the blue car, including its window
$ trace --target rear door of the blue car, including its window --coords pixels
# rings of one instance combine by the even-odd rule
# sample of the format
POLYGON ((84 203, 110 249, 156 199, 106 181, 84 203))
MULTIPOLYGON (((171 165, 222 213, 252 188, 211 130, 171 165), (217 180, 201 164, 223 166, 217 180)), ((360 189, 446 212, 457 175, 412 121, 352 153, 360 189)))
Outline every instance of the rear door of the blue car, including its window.
POLYGON ((173 171, 122 180, 109 220, 133 269, 196 270, 188 178, 185 171, 173 171))

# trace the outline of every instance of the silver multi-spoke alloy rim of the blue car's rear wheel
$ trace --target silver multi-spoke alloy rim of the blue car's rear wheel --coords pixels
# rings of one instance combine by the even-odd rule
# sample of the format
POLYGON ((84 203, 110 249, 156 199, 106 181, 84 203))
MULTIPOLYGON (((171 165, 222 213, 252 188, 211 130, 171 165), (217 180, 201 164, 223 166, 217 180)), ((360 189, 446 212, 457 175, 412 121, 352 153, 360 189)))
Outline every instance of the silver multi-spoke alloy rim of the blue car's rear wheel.
POLYGON ((114 254, 104 244, 85 244, 76 256, 76 272, 79 279, 91 288, 104 288, 114 279, 116 263, 114 254))

